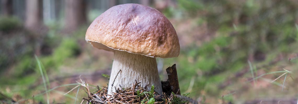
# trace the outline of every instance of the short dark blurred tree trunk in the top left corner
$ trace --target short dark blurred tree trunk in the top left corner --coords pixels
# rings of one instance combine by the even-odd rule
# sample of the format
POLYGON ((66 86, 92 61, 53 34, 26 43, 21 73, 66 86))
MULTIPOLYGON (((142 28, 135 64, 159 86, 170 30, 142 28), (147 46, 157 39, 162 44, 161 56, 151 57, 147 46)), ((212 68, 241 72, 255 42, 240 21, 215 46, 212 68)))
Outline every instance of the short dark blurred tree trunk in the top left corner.
POLYGON ((1 0, 1 11, 4 16, 13 15, 13 0, 1 0))

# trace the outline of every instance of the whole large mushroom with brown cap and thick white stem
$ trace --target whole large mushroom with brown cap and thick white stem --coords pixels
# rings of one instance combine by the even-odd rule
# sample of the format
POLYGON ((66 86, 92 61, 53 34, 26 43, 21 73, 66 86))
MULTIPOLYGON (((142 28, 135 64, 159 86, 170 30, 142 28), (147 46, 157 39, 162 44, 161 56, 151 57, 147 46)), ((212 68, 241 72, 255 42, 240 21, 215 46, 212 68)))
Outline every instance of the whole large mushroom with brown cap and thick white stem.
POLYGON ((89 26, 86 41, 114 52, 110 95, 114 87, 131 87, 135 80, 141 82, 141 87, 149 85, 147 90, 153 84, 162 94, 155 58, 178 57, 180 53, 170 21, 158 10, 141 4, 122 4, 105 11, 89 26))

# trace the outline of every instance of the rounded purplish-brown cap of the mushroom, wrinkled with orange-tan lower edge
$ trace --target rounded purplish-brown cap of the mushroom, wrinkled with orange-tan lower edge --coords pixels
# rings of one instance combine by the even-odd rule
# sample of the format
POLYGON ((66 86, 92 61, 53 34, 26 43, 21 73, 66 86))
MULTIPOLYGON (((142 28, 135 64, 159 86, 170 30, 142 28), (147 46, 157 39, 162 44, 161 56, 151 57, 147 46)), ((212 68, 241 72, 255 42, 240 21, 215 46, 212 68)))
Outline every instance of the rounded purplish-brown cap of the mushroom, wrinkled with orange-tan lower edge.
POLYGON ((180 53, 170 21, 158 10, 141 4, 122 4, 105 11, 89 26, 86 41, 98 49, 148 57, 170 58, 180 53))

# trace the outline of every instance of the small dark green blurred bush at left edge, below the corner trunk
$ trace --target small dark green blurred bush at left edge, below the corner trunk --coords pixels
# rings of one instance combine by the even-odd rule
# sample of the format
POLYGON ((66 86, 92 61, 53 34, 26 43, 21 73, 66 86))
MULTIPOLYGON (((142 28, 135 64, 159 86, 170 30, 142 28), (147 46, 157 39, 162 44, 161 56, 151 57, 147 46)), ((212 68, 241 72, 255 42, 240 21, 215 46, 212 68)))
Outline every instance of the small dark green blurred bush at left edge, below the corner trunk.
POLYGON ((10 31, 21 27, 21 22, 16 17, 0 17, 0 31, 10 31))

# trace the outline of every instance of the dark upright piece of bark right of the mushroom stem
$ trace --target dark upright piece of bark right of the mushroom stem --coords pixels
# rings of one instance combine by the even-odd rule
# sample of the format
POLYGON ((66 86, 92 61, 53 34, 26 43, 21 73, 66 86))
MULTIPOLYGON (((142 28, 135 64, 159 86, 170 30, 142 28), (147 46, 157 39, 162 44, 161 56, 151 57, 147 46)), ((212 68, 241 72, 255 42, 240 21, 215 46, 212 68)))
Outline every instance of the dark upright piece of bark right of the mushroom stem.
POLYGON ((171 91, 177 95, 181 95, 180 88, 179 88, 179 82, 178 82, 178 76, 177 76, 177 70, 176 70, 176 64, 174 64, 171 67, 168 67, 166 69, 166 71, 168 74, 168 81, 170 84, 171 91))

